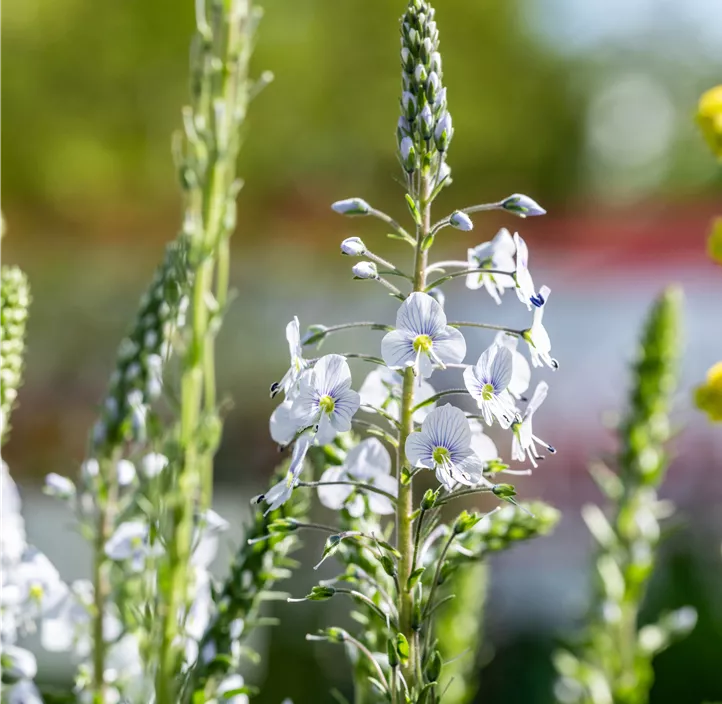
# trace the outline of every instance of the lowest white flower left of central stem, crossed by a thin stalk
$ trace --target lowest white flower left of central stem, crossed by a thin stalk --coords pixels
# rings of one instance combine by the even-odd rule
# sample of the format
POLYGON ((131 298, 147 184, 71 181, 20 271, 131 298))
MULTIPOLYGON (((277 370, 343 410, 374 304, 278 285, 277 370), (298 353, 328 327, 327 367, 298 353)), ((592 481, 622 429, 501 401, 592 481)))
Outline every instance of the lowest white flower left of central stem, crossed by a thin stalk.
MULTIPOLYGON (((397 482, 396 478, 391 476, 391 457, 380 440, 368 438, 361 441, 349 451, 343 465, 327 469, 321 475, 320 481, 349 480, 371 484, 396 496, 397 482)), ((357 492, 354 499, 347 503, 348 498, 355 490, 355 487, 346 484, 319 486, 318 498, 326 508, 334 511, 342 509, 345 505, 352 516, 359 518, 363 515, 365 508, 363 498, 357 492)), ((394 512, 391 499, 375 492, 368 492, 367 497, 372 513, 384 516, 394 512)))

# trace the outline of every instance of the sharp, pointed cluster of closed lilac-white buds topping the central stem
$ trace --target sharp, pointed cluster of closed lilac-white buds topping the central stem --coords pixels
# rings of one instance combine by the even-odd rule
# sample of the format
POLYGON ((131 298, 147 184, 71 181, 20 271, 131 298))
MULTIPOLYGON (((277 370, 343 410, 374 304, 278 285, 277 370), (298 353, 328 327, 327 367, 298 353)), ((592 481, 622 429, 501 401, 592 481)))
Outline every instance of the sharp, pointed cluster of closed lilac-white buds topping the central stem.
POLYGON ((435 10, 425 0, 409 3, 401 20, 401 117, 396 132, 404 170, 437 167, 449 148, 454 130, 442 83, 439 31, 435 10))

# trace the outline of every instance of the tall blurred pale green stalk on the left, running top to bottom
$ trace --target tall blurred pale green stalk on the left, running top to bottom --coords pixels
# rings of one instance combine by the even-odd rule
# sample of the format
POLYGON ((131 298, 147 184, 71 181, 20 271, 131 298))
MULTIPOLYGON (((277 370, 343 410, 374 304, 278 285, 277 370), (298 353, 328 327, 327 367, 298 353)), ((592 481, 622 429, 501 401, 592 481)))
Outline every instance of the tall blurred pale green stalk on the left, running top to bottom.
POLYGON ((250 85, 248 60, 258 19, 248 0, 198 0, 191 51, 192 106, 176 142, 185 193, 185 229, 194 271, 182 361, 177 475, 168 497, 167 559, 158 574, 164 597, 157 704, 177 704, 182 663, 179 626, 189 599, 194 514, 212 502, 213 456, 221 434, 215 388, 215 336, 227 299, 227 240, 240 189, 236 164, 250 85))

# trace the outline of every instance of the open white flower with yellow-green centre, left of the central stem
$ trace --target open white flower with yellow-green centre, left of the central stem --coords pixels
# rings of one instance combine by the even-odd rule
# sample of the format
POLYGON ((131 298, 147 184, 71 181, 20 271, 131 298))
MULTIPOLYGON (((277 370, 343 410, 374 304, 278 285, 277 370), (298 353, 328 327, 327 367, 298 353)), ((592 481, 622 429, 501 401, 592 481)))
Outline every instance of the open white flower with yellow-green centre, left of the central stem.
POLYGON ((328 354, 301 378, 291 417, 298 428, 318 426, 316 440, 327 445, 337 433, 351 430, 351 419, 359 405, 359 395, 351 390, 346 359, 328 354))

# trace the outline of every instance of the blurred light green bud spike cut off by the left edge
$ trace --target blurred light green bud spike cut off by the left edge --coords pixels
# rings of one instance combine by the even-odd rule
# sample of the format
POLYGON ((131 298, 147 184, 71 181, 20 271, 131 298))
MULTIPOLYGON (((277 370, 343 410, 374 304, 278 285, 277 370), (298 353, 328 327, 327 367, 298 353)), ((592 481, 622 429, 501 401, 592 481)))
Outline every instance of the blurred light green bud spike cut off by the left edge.
POLYGON ((0 269, 0 445, 9 430, 10 412, 22 381, 25 325, 30 289, 15 266, 0 269))

